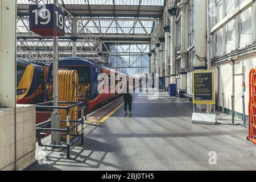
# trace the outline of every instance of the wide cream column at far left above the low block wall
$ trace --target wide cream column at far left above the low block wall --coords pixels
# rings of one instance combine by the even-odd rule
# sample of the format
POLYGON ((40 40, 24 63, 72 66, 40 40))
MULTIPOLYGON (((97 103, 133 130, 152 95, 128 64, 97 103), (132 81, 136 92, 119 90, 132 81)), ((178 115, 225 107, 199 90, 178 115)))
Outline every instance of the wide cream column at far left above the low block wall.
POLYGON ((16 107, 16 1, 0 1, 0 107, 16 107))

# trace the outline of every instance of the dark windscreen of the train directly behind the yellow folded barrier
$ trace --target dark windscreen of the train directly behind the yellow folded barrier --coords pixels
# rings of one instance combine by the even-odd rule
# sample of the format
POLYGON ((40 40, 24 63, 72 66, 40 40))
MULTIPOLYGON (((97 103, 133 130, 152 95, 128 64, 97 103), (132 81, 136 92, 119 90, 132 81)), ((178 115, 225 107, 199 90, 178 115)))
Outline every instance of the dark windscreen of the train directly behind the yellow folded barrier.
MULTIPOLYGON (((59 69, 76 70, 79 74, 79 84, 89 83, 89 69, 86 67, 60 67, 59 69)), ((53 82, 53 74, 50 75, 50 83, 53 82)))

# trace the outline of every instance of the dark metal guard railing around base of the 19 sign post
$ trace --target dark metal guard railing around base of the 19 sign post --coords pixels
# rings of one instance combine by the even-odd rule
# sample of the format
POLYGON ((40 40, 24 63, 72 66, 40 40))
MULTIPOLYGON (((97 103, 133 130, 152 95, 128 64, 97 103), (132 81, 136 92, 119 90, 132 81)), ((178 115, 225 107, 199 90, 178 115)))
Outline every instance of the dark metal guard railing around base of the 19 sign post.
POLYGON ((52 129, 51 127, 47 128, 47 126, 51 125, 51 119, 47 122, 40 123, 36 126, 36 137, 38 138, 38 145, 40 147, 52 147, 52 148, 64 148, 67 149, 67 158, 70 158, 70 148, 81 139, 81 144, 84 144, 84 122, 86 121, 86 109, 85 102, 59 102, 59 104, 70 104, 69 106, 52 106, 53 102, 45 102, 43 104, 36 105, 36 109, 44 109, 44 110, 50 110, 50 109, 59 109, 59 110, 66 110, 67 111, 67 120, 61 120, 60 122, 65 122, 67 124, 66 129, 52 129), (81 120, 75 120, 71 121, 69 120, 69 112, 73 107, 79 107, 79 110, 81 110, 81 120), (70 127, 70 123, 75 123, 74 126, 70 127), (71 134, 71 131, 73 129, 78 129, 78 127, 81 125, 81 132, 78 134, 71 134), (61 132, 61 135, 65 135, 67 138, 67 142, 65 145, 54 145, 54 144, 43 144, 41 140, 40 133, 42 131, 56 131, 61 132), (71 137, 73 139, 71 140, 71 137))

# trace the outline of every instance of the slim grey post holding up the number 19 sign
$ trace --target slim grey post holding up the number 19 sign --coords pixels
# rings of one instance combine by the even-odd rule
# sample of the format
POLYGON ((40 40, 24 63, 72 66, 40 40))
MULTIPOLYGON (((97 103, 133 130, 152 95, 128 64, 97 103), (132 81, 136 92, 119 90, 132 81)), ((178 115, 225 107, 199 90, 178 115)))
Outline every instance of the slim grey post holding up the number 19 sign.
MULTIPOLYGON (((54 4, 58 6, 58 1, 54 0, 54 4)), ((59 61, 59 49, 58 49, 58 37, 53 37, 53 106, 59 106, 59 90, 58 90, 58 61, 59 61)), ((58 109, 54 109, 51 115, 52 128, 60 129, 60 113, 58 109)), ((60 144, 60 133, 52 132, 51 135, 52 144, 60 144)))

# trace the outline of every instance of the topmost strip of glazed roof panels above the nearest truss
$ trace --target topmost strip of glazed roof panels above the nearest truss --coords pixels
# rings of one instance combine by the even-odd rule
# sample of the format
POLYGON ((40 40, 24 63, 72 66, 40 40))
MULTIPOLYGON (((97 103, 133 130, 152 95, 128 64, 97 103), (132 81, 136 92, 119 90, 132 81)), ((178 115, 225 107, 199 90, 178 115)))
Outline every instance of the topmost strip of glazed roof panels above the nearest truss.
MULTIPOLYGON (((18 14, 28 15, 28 5, 36 0, 18 0, 18 14)), ((38 0, 38 3, 53 3, 53 0, 38 0)), ((164 0, 59 0, 74 16, 129 16, 161 18, 164 0)))

